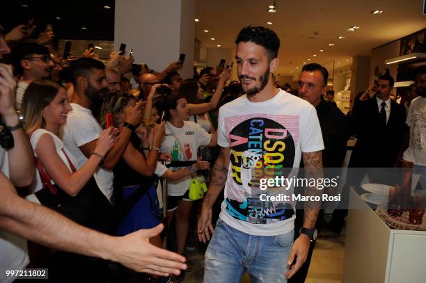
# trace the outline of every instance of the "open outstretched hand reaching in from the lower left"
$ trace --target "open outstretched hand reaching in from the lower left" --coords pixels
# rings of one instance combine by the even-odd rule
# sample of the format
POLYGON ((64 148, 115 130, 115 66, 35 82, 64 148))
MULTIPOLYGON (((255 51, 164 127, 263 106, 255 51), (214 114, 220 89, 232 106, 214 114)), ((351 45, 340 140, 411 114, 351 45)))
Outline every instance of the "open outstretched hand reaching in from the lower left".
POLYGON ((149 239, 159 235, 162 229, 163 225, 159 224, 152 229, 141 229, 120 237, 120 243, 111 247, 111 255, 107 258, 142 273, 179 275, 180 270, 187 269, 186 259, 149 243, 149 239))

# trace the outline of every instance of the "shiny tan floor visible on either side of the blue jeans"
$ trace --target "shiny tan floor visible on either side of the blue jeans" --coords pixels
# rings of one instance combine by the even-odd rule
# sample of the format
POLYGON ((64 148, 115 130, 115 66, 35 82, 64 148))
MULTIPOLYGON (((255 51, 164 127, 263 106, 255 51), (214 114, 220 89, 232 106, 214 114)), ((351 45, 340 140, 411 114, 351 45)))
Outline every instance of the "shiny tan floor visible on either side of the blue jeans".
MULTIPOLYGON (((345 234, 345 231, 342 233, 345 234)), ((337 236, 327 230, 319 234, 312 261, 310 262, 306 283, 340 283, 343 270, 345 236, 337 236)), ((198 250, 187 251, 187 256, 194 262, 194 271, 187 273, 184 283, 203 282, 204 254, 198 250)), ((244 275, 241 283, 248 283, 244 275)))

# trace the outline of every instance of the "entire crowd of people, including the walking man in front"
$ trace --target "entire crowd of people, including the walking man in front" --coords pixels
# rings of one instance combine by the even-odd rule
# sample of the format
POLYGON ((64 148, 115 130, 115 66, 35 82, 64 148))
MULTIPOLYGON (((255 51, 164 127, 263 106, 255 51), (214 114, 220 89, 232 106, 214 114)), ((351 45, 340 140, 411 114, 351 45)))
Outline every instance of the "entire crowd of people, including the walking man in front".
MULTIPOLYGON (((356 136, 349 167, 370 178, 368 168, 395 167, 402 156, 425 172, 424 68, 407 108, 390 99, 386 73, 345 117, 317 63, 303 66, 297 90, 276 87, 280 40, 260 26, 235 41, 239 82, 232 67, 182 79, 181 61, 155 72, 120 52, 105 64, 93 49, 64 59, 49 49, 51 34, 29 42, 21 29, 0 26, 0 270, 181 282, 194 265, 187 238, 197 234, 211 239, 205 282, 239 282, 245 271, 254 282, 304 282, 322 211, 260 202, 253 168, 340 168, 356 136), (209 186, 198 202, 197 175, 209 186), (164 249, 164 228, 174 252, 164 249)), ((349 177, 347 186, 360 182, 349 177)), ((334 232, 344 217, 344 207, 335 211, 334 232)))

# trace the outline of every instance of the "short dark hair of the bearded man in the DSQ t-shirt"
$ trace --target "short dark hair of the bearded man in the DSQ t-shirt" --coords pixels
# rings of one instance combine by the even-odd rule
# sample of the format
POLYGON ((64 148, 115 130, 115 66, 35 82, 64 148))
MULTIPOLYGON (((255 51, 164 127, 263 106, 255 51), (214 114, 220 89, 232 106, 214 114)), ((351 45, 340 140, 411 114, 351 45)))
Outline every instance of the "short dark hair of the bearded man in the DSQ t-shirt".
POLYGON ((280 39, 271 29, 264 26, 246 26, 239 31, 235 44, 239 42, 253 42, 267 49, 268 59, 272 60, 278 57, 280 49, 280 39))

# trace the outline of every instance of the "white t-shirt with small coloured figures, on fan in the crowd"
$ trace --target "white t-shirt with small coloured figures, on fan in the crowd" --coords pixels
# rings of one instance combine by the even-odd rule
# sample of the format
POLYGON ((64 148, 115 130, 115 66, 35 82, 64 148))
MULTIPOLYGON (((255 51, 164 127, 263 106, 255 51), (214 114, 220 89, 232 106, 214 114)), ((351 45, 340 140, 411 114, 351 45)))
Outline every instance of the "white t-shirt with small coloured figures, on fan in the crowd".
MULTIPOLYGON (((166 133, 161 143, 161 152, 168 152, 172 156, 172 161, 194 161, 197 160, 198 147, 208 145, 212 136, 205 131, 199 124, 184 121, 182 128, 176 128, 171 123, 166 122, 166 133), (180 141, 183 149, 180 149, 178 141, 180 141), (182 150, 184 152, 182 152, 182 150), (186 156, 186 158, 185 158, 186 156)), ((179 170, 184 167, 171 167, 171 170, 179 170)), ((188 175, 179 181, 167 182, 167 194, 180 196, 189 190, 191 185, 191 176, 188 175)))

